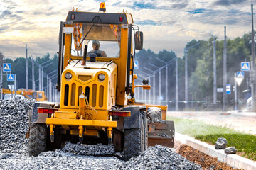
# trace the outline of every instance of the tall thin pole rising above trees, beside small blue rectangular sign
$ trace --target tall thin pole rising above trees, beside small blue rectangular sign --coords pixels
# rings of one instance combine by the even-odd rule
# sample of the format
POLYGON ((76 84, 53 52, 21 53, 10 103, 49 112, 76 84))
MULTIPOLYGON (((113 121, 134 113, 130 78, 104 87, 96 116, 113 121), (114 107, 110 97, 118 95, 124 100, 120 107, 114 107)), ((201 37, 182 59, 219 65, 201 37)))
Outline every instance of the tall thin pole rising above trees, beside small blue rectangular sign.
POLYGON ((224 26, 224 49, 223 49, 223 111, 225 111, 227 93, 227 37, 226 37, 226 26, 224 26))

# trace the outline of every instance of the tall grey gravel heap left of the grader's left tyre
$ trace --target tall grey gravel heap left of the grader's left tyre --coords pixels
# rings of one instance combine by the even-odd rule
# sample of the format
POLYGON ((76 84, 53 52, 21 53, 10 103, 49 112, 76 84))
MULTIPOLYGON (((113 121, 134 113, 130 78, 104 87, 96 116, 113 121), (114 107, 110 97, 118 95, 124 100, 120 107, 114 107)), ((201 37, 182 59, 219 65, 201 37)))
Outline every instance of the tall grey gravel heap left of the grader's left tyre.
POLYGON ((0 100, 0 151, 8 153, 27 152, 28 111, 33 109, 30 99, 0 100))

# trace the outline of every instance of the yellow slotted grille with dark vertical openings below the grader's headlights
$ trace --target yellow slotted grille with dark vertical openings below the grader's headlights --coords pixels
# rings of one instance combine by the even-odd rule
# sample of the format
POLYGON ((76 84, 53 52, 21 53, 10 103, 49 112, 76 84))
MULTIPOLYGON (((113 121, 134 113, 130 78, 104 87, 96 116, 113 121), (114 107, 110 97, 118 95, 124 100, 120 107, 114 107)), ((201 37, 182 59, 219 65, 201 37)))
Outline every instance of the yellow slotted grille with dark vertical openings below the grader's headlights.
POLYGON ((104 106, 104 86, 92 84, 92 86, 78 86, 78 84, 65 84, 64 106, 79 106, 79 96, 84 92, 89 105, 97 108, 104 106))

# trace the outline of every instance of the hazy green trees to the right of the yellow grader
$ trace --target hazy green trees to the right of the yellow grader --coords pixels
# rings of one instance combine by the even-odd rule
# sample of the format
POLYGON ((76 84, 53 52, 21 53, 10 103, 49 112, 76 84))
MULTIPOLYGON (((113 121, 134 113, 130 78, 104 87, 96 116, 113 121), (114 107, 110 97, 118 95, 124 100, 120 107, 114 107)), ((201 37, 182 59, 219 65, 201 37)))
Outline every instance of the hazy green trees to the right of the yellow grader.
MULTIPOLYGON (((217 88, 223 88, 223 40, 216 39, 216 74, 217 88)), ((251 57, 251 34, 247 33, 242 37, 233 40, 227 40, 227 84, 235 86, 234 74, 240 71, 241 62, 250 62, 251 57)), ((208 40, 191 40, 186 44, 187 59, 188 59, 188 106, 193 106, 193 103, 213 103, 213 37, 208 40), (196 45, 198 44, 198 45, 196 45), (193 46, 195 45, 195 46, 193 46), (191 47, 193 46, 193 47, 191 47), (190 48, 191 47, 191 48, 190 48)), ((156 72, 156 86, 159 86, 159 73, 157 67, 164 66, 163 62, 155 59, 158 57, 165 62, 176 57, 175 52, 162 50, 158 54, 151 50, 139 51, 136 55, 139 61, 139 69, 136 74, 141 74, 140 77, 148 77, 144 74, 152 74, 149 69, 156 72), (156 65, 153 67, 152 65, 156 65)), ((168 101, 175 101, 175 62, 171 62, 168 69, 168 101)), ((161 94, 165 94, 165 69, 161 69, 161 94)), ((149 75, 151 76, 151 75, 149 75)), ((136 81, 137 84, 141 80, 136 81)), ((149 82, 152 85, 152 82, 149 82)), ((158 88, 156 88, 158 89, 158 88)), ((233 88, 232 88, 233 89, 233 88)), ((159 92, 156 90, 155 96, 159 92)), ((250 97, 250 79, 249 73, 245 72, 245 79, 238 87, 238 99, 240 103, 245 103, 250 97), (249 90, 249 92, 245 92, 249 90), (244 91, 244 92, 242 92, 244 91)), ((185 101, 185 56, 178 57, 178 99, 180 103, 185 101)), ((217 101, 223 102, 223 93, 217 93, 217 101)), ((228 94, 228 104, 234 104, 234 92, 228 94)))

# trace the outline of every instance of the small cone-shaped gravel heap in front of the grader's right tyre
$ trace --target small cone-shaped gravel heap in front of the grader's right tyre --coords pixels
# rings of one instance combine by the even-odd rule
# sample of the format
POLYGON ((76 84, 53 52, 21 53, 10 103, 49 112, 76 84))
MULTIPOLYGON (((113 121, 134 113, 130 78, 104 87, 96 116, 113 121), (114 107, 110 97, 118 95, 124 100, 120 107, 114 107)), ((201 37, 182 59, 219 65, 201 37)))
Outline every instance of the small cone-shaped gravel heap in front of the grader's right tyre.
POLYGON ((125 162, 119 169, 201 169, 201 166, 195 164, 180 154, 172 152, 168 147, 156 145, 149 147, 143 154, 131 158, 125 162))

